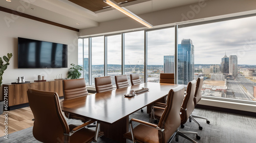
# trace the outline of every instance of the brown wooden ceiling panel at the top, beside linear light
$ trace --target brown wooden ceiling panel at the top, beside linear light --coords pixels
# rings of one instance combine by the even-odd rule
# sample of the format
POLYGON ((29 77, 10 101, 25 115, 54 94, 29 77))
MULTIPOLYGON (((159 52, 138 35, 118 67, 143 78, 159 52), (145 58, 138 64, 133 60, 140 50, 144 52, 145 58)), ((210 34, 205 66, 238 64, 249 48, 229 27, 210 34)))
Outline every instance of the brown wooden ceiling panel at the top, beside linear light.
MULTIPOLYGON (((103 0, 69 0, 69 1, 93 12, 102 10, 103 7, 109 6, 108 4, 104 3, 103 0)), ((124 3, 127 1, 127 3, 129 3, 136 0, 114 0, 114 1, 117 3, 124 3)))

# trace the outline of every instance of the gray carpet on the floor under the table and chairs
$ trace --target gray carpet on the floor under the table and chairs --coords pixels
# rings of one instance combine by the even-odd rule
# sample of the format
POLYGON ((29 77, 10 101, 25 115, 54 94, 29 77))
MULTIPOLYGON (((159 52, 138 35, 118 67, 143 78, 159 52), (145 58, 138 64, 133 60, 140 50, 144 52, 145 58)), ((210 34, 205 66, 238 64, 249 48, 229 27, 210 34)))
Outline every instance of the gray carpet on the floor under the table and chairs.
MULTIPOLYGON (((144 108, 146 111, 146 108, 144 108)), ((210 124, 206 121, 197 119, 203 127, 199 130, 196 123, 187 122, 185 128, 180 130, 195 131, 201 136, 200 140, 196 139, 195 135, 188 135, 197 142, 256 142, 256 117, 232 114, 226 112, 195 109, 194 114, 208 117, 210 124)), ((145 112, 137 111, 130 115, 130 118, 138 118, 148 122, 148 115, 145 112)), ((68 124, 81 124, 76 120, 68 120, 68 124)), ((136 125, 134 125, 136 126, 136 125)), ((9 139, 0 137, 0 142, 39 142, 32 134, 32 127, 9 134, 9 139)), ((98 142, 115 142, 104 136, 99 138, 98 142)), ((176 142, 175 139, 172 142, 176 142)), ((179 142, 190 142, 182 137, 179 137, 179 142)))

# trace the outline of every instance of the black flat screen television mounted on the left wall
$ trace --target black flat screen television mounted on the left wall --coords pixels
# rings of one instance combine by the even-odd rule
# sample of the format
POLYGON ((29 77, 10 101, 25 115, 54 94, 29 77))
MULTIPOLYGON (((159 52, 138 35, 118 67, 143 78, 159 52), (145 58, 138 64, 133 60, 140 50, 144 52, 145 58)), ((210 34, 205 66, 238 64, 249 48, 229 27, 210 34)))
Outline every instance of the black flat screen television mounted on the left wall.
POLYGON ((18 37, 18 68, 68 67, 68 45, 18 37))

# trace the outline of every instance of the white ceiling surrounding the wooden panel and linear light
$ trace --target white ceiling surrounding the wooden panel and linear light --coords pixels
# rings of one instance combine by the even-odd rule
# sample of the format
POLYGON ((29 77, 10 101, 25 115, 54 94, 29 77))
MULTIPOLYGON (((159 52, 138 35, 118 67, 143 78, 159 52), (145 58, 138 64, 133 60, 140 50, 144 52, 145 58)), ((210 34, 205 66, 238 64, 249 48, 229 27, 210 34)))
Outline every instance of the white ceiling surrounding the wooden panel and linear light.
MULTIPOLYGON (((126 6, 125 8, 139 15, 198 3, 198 0, 138 1, 141 1, 142 3, 126 6)), ((12 0, 12 2, 1 0, 0 6, 76 29, 97 27, 100 22, 126 17, 126 15, 114 10, 113 8, 108 8, 109 10, 102 10, 94 13, 71 3, 68 0, 12 0), (76 23, 79 23, 79 25, 76 23)))

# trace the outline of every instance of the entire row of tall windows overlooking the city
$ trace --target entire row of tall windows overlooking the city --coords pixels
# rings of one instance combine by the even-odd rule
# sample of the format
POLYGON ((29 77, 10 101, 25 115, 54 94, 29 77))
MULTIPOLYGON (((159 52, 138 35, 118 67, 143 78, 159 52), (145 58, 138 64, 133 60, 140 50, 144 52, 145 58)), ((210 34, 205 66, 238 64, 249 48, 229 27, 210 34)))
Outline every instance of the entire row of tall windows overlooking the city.
MULTIPOLYGON (((206 97, 255 101, 255 22, 256 16, 252 16, 178 26, 177 55, 174 54, 173 27, 105 36, 106 47, 104 36, 92 37, 92 85, 94 77, 104 76, 104 73, 113 77, 126 74, 129 79, 130 74, 138 73, 142 82, 144 77, 147 77, 148 82, 158 82, 159 73, 174 73, 176 65, 178 84, 187 84, 200 76, 204 77, 202 93, 206 97), (104 54, 107 56, 104 57, 104 54), (176 56, 177 63, 174 63, 176 56), (104 58, 107 61, 106 71, 104 58)), ((88 38, 84 39, 84 47, 90 43, 86 40, 88 38)), ((80 45, 78 51, 81 50, 80 45)), ((78 60, 81 61, 80 54, 78 60)))

